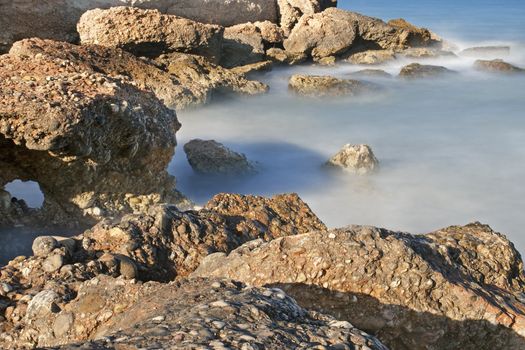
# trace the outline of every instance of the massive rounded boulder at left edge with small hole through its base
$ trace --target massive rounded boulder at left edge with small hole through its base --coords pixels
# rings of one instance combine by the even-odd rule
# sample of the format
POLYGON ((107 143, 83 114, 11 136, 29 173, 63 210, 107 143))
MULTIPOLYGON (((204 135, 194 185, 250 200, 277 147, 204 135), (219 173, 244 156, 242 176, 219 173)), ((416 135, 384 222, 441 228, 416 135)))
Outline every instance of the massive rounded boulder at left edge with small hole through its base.
POLYGON ((1 56, 0 85, 0 188, 31 180, 45 197, 0 225, 74 227, 180 202, 166 171, 180 124, 153 94, 38 54, 1 56))

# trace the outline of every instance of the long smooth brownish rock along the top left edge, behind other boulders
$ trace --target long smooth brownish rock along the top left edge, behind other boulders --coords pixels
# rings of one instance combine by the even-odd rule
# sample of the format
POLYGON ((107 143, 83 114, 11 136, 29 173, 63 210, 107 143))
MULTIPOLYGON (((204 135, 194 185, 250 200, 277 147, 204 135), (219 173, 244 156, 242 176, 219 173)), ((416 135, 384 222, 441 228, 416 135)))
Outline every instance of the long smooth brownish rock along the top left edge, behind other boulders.
POLYGON ((84 12, 113 6, 157 9, 222 26, 266 20, 278 22, 277 3, 267 0, 0 0, 0 53, 24 38, 76 42, 79 37, 76 25, 84 12))

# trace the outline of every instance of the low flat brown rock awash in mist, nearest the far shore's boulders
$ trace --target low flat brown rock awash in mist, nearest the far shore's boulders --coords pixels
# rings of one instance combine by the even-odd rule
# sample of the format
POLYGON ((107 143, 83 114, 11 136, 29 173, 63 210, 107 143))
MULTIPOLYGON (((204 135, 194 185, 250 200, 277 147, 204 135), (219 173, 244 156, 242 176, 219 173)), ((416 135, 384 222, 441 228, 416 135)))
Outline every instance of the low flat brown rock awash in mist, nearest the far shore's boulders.
POLYGON ((354 96, 372 90, 373 86, 359 80, 296 74, 290 78, 288 88, 303 96, 327 97, 354 96))

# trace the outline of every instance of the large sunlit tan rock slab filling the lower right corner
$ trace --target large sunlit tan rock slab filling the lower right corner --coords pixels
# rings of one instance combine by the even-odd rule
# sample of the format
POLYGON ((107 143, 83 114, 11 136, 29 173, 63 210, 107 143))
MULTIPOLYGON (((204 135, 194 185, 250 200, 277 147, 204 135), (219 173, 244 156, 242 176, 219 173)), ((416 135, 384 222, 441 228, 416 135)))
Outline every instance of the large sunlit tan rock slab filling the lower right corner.
POLYGON ((479 223, 413 236, 373 227, 252 242, 194 276, 279 286, 391 349, 521 349, 525 276, 512 243, 479 223))

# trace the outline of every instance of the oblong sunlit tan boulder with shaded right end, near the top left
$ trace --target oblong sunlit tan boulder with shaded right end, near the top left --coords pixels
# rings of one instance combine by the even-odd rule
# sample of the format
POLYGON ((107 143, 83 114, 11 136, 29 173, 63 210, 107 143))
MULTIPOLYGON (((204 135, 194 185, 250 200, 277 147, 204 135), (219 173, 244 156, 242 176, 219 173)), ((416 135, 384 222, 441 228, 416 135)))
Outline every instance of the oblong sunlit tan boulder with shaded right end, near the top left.
POLYGON ((118 47, 137 56, 182 52, 218 63, 224 29, 157 10, 113 7, 87 11, 77 25, 82 44, 118 47))

